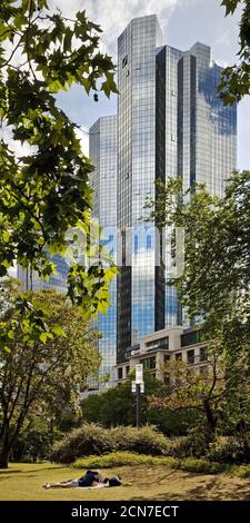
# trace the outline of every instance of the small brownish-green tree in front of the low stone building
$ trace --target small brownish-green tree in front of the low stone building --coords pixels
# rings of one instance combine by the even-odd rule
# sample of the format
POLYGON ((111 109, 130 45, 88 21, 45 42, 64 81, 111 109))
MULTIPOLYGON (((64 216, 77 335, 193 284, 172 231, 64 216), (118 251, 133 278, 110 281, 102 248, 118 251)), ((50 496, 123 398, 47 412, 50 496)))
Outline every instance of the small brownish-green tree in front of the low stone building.
POLYGON ((207 374, 186 362, 169 362, 164 367, 168 385, 163 394, 149 397, 150 408, 169 408, 172 412, 188 411, 206 418, 206 436, 211 441, 216 435, 218 416, 224 403, 224 374, 214 348, 207 362, 207 374))

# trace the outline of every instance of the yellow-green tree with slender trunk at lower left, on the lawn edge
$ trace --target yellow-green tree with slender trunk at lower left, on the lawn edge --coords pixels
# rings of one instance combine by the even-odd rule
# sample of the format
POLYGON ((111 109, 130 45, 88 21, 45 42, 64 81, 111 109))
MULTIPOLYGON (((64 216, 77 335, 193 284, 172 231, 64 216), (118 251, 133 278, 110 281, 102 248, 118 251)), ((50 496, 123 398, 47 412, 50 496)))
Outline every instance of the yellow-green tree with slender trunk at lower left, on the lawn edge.
POLYGON ((16 322, 17 328, 9 352, 0 353, 0 467, 8 466, 29 414, 57 418, 77 408, 77 384, 100 364, 91 343, 93 335, 78 307, 52 290, 30 294, 26 299, 40 310, 40 317, 43 315, 46 329, 36 336, 38 322, 30 325, 27 307, 13 304, 6 313, 6 324, 16 322))

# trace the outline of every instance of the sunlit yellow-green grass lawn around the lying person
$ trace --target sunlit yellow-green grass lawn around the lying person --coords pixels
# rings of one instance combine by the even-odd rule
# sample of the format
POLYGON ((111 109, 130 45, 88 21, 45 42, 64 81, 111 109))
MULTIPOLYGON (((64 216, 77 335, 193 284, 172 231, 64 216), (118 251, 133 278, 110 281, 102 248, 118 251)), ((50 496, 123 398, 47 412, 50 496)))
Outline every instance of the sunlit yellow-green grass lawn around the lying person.
MULTIPOLYGON (((82 471, 82 474, 84 471, 82 471)), ((0 471, 0 500, 13 501, 200 501, 200 500, 248 500, 250 501, 250 481, 230 477, 223 474, 194 474, 172 471, 166 466, 122 466, 102 470, 111 476, 121 473, 124 485, 119 487, 87 490, 42 489, 47 481, 62 481, 78 477, 81 471, 49 463, 10 464, 0 471)))

